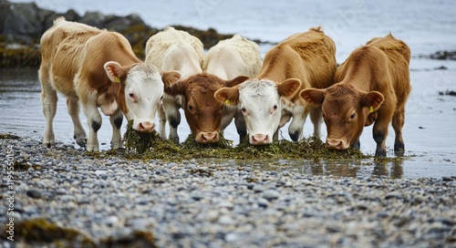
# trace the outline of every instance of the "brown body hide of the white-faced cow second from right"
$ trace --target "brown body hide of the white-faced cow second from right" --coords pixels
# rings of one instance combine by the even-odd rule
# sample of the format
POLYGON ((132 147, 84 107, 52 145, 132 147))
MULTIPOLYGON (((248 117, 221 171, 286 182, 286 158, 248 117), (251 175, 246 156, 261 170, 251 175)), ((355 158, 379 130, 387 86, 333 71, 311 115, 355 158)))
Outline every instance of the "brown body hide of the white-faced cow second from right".
MULTIPOLYGON (((301 81, 304 88, 327 88, 333 84, 337 69, 336 45, 320 27, 289 36, 264 56, 263 67, 256 78, 267 78, 277 83, 288 78, 301 81)), ((290 99, 299 99, 294 94, 290 99)))

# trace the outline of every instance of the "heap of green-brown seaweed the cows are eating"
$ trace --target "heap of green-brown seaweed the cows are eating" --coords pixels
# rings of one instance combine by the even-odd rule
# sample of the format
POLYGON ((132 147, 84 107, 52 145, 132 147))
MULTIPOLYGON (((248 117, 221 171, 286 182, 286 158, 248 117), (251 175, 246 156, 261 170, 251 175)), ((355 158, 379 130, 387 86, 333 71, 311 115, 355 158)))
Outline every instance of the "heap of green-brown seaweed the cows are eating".
POLYGON ((253 146, 248 139, 233 147, 232 140, 220 138, 216 144, 197 143, 192 134, 181 144, 171 140, 161 140, 154 131, 149 134, 140 133, 130 128, 124 135, 126 153, 130 159, 181 161, 192 159, 229 159, 256 160, 291 159, 291 160, 361 160, 370 158, 360 150, 343 151, 327 150, 322 140, 309 137, 299 142, 278 140, 264 146, 253 146))

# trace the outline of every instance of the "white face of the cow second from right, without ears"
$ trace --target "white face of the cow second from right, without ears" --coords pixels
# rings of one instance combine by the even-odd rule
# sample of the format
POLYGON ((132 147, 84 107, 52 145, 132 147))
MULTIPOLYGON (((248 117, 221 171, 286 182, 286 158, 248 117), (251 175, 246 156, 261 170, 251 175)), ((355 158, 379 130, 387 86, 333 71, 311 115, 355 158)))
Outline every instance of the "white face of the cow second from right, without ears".
POLYGON ((250 143, 271 143, 282 112, 275 82, 265 79, 245 81, 239 88, 239 106, 244 114, 250 143), (255 140, 255 137, 261 140, 255 140))

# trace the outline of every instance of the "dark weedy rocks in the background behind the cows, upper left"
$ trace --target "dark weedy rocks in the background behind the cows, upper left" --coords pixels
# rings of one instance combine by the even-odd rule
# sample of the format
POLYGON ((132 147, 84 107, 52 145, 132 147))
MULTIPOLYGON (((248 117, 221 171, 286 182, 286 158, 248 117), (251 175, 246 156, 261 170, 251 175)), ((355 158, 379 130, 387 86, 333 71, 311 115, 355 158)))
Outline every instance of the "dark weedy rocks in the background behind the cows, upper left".
MULTIPOLYGON (((70 9, 66 13, 56 13, 39 8, 32 3, 10 3, 0 0, 0 67, 39 67, 41 54, 39 39, 52 26, 58 16, 65 16, 67 21, 79 22, 88 26, 117 31, 130 41, 135 54, 144 59, 144 47, 150 36, 161 29, 147 25, 139 15, 102 15, 99 12, 87 12, 78 15, 70 9)), ((219 40, 232 37, 233 34, 219 34, 215 29, 200 30, 191 26, 175 26, 201 39, 208 49, 219 40)), ((260 40, 255 40, 262 43, 260 40)))

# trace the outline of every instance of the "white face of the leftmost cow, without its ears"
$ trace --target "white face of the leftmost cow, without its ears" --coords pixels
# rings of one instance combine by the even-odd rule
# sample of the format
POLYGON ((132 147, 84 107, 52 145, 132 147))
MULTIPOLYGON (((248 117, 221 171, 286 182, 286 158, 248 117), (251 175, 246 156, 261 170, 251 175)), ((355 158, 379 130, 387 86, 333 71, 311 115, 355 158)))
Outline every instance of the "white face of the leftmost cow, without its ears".
POLYGON ((154 119, 161 105, 164 84, 160 71, 153 66, 140 64, 131 67, 125 80, 125 102, 129 112, 127 119, 133 119, 133 129, 151 132, 154 119))

